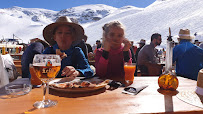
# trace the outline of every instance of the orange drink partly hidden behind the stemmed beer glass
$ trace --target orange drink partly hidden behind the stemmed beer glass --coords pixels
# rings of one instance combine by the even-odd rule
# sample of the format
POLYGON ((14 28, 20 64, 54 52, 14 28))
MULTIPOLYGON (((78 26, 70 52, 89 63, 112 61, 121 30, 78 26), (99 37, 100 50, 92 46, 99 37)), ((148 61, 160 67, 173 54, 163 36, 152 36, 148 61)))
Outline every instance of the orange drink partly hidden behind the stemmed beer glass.
POLYGON ((41 85, 42 81, 37 77, 34 67, 30 65, 30 74, 31 74, 31 84, 32 85, 41 85))

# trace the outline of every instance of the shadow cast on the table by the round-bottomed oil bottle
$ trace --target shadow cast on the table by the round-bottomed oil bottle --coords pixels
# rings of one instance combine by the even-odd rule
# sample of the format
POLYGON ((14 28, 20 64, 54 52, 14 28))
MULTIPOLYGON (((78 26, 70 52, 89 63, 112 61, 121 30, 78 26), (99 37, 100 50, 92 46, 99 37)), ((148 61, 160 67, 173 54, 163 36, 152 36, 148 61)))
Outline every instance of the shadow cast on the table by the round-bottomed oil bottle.
POLYGON ((164 102, 165 102, 165 112, 174 112, 173 110, 173 98, 179 92, 177 90, 164 90, 164 89, 157 89, 157 91, 164 95, 164 102))

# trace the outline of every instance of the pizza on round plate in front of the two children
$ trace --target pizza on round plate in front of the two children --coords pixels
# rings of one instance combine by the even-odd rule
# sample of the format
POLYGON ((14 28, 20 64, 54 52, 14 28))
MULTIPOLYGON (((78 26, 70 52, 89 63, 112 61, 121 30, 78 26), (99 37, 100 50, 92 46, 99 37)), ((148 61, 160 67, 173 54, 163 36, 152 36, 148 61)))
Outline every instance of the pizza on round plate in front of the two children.
POLYGON ((89 92, 104 88, 109 80, 102 80, 98 77, 90 79, 60 78, 50 81, 49 87, 58 91, 65 92, 89 92))

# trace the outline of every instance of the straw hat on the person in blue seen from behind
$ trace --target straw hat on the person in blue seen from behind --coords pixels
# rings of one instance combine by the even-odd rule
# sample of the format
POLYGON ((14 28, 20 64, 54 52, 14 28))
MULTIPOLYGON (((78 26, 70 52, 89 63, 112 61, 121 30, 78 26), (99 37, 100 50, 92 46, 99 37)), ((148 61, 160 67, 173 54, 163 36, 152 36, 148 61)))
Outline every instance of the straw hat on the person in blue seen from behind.
POLYGON ((190 36, 190 30, 189 29, 180 29, 179 31, 179 38, 180 39, 193 39, 194 36, 190 36))

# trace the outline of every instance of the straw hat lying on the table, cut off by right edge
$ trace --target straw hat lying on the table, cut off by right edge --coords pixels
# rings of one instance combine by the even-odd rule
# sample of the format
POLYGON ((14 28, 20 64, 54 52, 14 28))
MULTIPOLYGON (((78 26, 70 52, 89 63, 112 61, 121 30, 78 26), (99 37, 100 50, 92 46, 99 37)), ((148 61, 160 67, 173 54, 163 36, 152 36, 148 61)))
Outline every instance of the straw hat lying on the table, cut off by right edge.
POLYGON ((180 91, 177 97, 186 103, 203 108, 203 69, 198 73, 196 90, 180 91))

